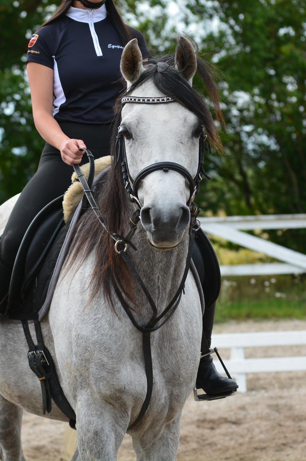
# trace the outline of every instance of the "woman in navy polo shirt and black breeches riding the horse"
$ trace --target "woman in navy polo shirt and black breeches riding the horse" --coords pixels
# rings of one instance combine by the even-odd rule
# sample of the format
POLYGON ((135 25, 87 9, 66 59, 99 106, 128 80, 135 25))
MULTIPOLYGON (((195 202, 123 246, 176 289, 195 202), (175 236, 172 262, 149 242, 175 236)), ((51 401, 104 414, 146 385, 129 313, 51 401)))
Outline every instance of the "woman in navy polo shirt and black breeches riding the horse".
MULTIPOLYGON (((137 38, 143 61, 151 58, 139 30, 121 18, 113 0, 62 0, 58 10, 32 35, 27 71, 35 127, 46 141, 38 169, 21 192, 0 239, 0 316, 20 242, 35 215, 71 184, 71 166, 109 154, 113 105, 124 84, 120 59, 137 38), (39 193, 37 193, 39 192, 39 193)), ((210 347, 215 305, 203 325, 210 347)), ((200 359, 198 387, 219 394, 236 389, 219 375, 212 356, 200 359)))

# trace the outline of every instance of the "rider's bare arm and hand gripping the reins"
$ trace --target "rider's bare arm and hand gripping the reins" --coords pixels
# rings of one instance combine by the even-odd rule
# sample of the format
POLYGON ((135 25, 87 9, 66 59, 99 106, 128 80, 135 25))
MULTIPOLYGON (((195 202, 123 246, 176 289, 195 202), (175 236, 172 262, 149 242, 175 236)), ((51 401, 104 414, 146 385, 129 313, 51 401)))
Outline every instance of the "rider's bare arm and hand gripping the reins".
POLYGON ((31 90, 32 111, 35 127, 41 137, 60 150, 62 159, 68 165, 80 163, 86 148, 80 139, 70 139, 63 133, 53 118, 53 69, 36 62, 27 62, 31 90))

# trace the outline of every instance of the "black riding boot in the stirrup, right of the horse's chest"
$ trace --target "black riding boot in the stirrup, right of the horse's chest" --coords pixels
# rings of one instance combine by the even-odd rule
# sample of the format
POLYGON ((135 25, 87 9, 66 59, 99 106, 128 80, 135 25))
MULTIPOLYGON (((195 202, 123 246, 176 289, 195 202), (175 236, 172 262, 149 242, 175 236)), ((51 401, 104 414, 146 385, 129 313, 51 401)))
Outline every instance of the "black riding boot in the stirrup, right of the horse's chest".
MULTIPOLYGON (((211 347, 212 326, 215 314, 216 303, 205 308, 203 315, 203 338, 201 343, 201 353, 204 355, 209 352, 211 347)), ((206 355, 200 359, 196 379, 197 389, 203 389, 206 394, 216 395, 223 394, 238 388, 238 384, 230 378, 221 376, 212 361, 212 355, 206 355)))

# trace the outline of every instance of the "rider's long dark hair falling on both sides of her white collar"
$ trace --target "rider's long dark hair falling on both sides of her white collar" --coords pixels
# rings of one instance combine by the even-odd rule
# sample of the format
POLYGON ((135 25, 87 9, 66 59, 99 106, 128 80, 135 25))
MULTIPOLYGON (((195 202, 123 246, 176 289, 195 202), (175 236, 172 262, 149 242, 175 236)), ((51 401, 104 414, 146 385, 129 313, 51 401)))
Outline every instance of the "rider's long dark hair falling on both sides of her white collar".
MULTIPOLYGON (((71 7, 73 0, 65 1, 63 0, 62 3, 59 5, 56 12, 48 19, 44 24, 42 24, 38 29, 41 27, 53 23, 57 18, 63 16, 71 7)), ((132 40, 131 31, 128 24, 125 24, 124 20, 122 19, 120 13, 118 12, 113 0, 106 0, 106 10, 107 16, 110 19, 112 25, 117 30, 118 34, 120 35, 121 41, 123 46, 125 46, 130 40, 132 40)))

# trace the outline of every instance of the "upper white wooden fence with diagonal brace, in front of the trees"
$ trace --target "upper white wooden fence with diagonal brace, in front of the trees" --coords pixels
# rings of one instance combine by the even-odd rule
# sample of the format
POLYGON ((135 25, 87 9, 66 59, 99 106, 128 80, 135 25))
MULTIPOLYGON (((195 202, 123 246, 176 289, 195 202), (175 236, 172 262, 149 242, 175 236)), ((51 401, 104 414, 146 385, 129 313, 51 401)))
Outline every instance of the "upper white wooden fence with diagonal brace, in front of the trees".
POLYGON ((306 214, 200 218, 200 223, 202 229, 208 234, 222 237, 225 240, 282 261, 271 264, 221 266, 221 275, 271 275, 306 272, 305 254, 242 232, 255 229, 303 229, 306 228, 306 214))

